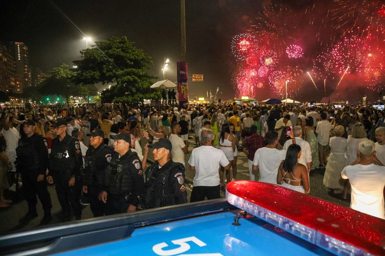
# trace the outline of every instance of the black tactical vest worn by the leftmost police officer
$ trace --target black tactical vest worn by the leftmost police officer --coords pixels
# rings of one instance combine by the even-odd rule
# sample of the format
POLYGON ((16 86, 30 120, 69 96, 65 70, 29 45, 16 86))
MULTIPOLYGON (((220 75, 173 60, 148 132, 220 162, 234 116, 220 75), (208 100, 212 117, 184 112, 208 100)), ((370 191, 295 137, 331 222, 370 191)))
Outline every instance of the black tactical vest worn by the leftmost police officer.
POLYGON ((35 140, 36 137, 28 139, 28 141, 20 139, 16 148, 16 165, 21 173, 24 170, 34 170, 40 167, 41 156, 35 148, 35 140))

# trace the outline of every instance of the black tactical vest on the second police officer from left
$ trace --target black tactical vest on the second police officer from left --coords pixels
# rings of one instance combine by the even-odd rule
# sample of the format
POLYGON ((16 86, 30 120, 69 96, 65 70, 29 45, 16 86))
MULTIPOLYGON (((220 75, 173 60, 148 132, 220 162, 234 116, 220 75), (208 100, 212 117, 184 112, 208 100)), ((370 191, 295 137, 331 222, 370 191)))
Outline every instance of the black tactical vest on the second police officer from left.
POLYGON ((50 171, 62 171, 70 173, 75 169, 75 158, 70 150, 71 142, 76 138, 71 137, 67 143, 56 144, 50 154, 50 171))

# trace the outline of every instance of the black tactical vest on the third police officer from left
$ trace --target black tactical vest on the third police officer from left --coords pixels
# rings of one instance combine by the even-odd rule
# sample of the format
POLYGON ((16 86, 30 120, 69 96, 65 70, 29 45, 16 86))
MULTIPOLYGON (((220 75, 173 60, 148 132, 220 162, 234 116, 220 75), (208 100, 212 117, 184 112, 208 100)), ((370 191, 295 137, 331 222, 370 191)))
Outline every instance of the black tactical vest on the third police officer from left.
POLYGON ((84 172, 83 172, 83 180, 85 184, 88 184, 88 185, 103 184, 104 170, 97 170, 97 166, 95 165, 95 160, 99 157, 98 154, 106 147, 108 147, 106 144, 102 144, 101 146, 99 146, 99 148, 95 149, 91 154, 86 155, 86 158, 84 160, 84 172))

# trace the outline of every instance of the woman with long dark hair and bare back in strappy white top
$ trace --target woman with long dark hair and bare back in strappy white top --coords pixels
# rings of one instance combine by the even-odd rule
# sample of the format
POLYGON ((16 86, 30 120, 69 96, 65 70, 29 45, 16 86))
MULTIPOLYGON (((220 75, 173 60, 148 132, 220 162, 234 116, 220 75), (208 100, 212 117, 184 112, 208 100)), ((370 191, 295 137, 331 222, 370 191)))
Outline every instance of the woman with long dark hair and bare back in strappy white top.
POLYGON ((308 194, 310 192, 309 176, 306 166, 299 164, 301 147, 292 144, 287 148, 286 158, 278 169, 277 184, 282 187, 308 194))

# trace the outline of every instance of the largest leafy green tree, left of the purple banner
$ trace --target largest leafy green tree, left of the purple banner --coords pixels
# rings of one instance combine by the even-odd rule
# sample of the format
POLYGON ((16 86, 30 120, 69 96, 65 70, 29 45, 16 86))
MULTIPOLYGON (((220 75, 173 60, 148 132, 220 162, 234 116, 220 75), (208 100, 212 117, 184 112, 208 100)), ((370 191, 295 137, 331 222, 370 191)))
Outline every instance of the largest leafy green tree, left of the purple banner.
POLYGON ((159 98, 159 92, 150 89, 154 79, 147 73, 153 64, 150 55, 126 36, 97 41, 94 46, 82 50, 81 59, 74 61, 78 83, 116 83, 102 92, 102 102, 133 105, 159 98))

